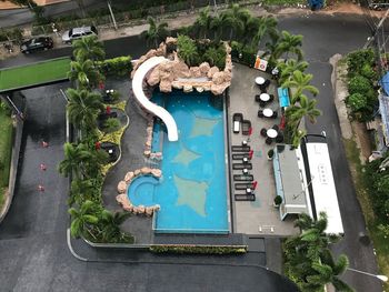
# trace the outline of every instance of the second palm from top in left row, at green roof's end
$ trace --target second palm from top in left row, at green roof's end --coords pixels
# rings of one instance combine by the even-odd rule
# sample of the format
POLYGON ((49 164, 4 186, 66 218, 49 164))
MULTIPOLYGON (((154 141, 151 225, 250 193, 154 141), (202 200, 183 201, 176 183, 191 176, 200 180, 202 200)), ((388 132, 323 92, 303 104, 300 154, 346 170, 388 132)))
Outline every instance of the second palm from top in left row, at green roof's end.
POLYGON ((78 81, 80 88, 96 87, 101 80, 103 80, 103 77, 96 69, 91 60, 70 62, 68 78, 71 81, 78 81))

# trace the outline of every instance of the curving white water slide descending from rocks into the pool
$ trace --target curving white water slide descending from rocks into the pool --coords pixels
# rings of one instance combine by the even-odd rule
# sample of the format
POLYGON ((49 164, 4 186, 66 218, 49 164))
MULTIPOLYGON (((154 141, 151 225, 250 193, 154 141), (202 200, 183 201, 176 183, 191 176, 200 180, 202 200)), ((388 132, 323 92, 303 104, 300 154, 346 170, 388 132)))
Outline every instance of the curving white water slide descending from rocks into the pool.
POLYGON ((156 66, 158 66, 161 62, 167 61, 164 57, 151 57, 149 60, 144 61, 136 71, 132 79, 132 91, 139 101, 139 103, 147 109, 149 112, 153 113, 158 118, 160 118, 163 123, 166 124, 166 128, 168 129, 168 139, 169 141, 177 141, 178 140, 178 130, 177 124, 171 117, 171 114, 163 109, 162 107, 157 105, 156 103, 152 103, 143 92, 143 79, 144 75, 156 66))

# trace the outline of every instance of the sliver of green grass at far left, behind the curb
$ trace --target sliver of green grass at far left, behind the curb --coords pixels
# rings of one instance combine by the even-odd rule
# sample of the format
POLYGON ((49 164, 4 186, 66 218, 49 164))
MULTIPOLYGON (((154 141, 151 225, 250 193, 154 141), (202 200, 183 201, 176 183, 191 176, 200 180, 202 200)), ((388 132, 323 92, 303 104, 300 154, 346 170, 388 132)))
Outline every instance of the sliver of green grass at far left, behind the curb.
POLYGON ((12 152, 12 120, 0 108, 0 208, 3 204, 3 195, 8 187, 10 162, 12 152))

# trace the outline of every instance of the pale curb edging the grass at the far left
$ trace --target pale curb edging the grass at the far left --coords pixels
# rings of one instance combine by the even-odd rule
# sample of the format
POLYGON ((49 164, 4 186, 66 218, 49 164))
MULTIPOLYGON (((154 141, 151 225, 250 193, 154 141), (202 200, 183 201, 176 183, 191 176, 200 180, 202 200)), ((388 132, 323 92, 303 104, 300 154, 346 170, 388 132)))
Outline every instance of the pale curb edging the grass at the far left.
MULTIPOLYGON (((26 110, 26 103, 23 104, 23 111, 26 110)), ((9 195, 6 198, 4 205, 2 210, 0 211, 0 224, 4 220, 14 194, 14 184, 17 180, 18 174, 18 164, 19 164, 19 153, 20 153, 20 145, 21 145, 21 139, 23 135, 23 125, 24 121, 17 119, 17 125, 16 125, 16 133, 13 134, 13 145, 12 145, 12 157, 11 157, 11 168, 10 168, 10 178, 9 178, 9 195)))

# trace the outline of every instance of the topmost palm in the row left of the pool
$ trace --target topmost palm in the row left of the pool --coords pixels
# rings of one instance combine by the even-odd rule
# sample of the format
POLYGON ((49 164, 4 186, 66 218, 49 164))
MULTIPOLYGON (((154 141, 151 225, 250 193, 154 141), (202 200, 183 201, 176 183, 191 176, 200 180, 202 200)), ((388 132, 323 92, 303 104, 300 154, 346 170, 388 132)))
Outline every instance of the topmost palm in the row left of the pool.
POLYGON ((72 43, 73 56, 77 61, 83 62, 88 59, 103 60, 106 57, 104 48, 102 42, 98 40, 97 36, 90 36, 81 38, 72 43))

